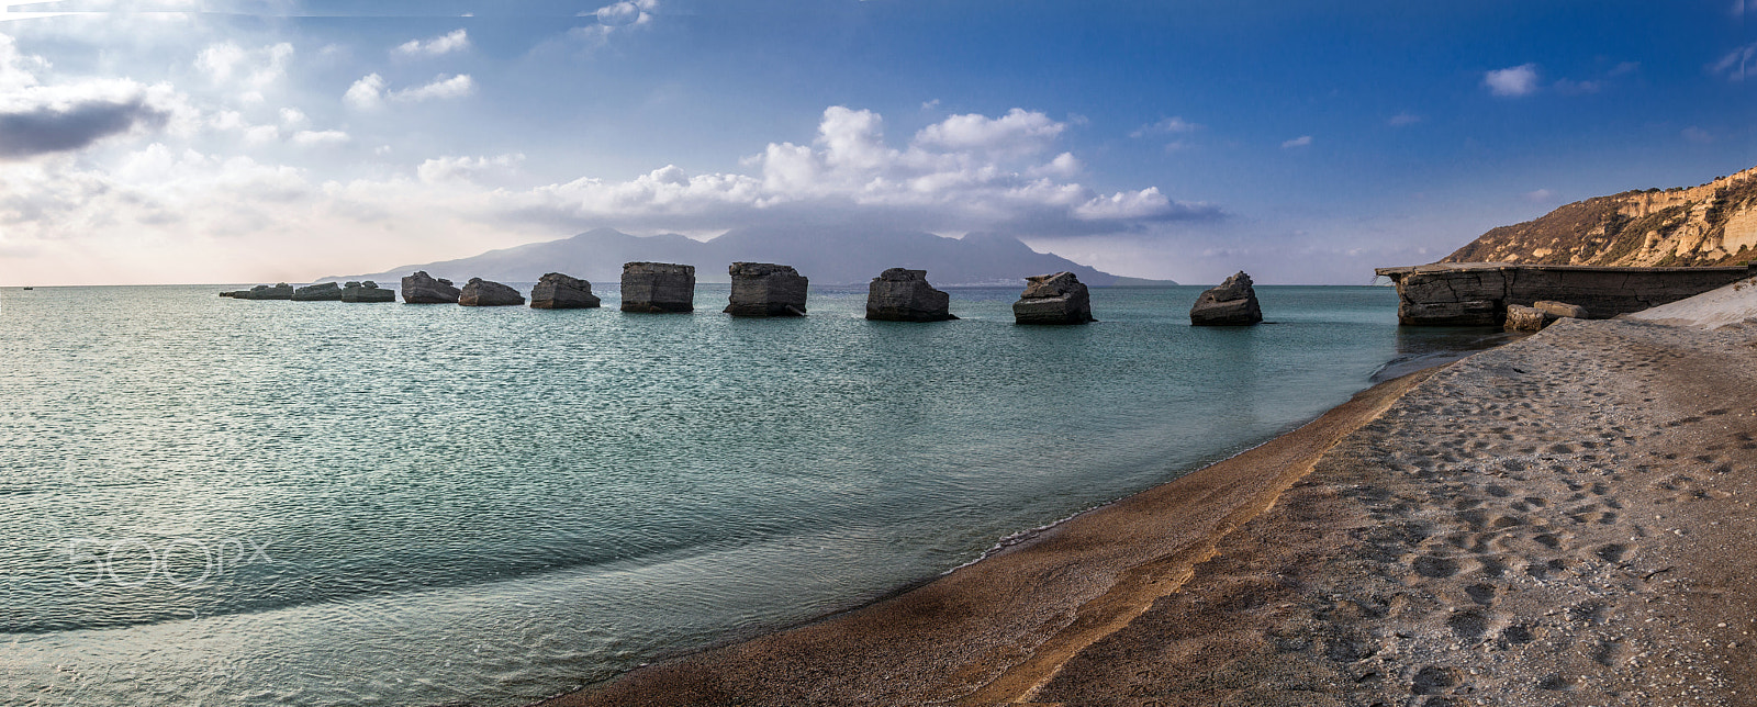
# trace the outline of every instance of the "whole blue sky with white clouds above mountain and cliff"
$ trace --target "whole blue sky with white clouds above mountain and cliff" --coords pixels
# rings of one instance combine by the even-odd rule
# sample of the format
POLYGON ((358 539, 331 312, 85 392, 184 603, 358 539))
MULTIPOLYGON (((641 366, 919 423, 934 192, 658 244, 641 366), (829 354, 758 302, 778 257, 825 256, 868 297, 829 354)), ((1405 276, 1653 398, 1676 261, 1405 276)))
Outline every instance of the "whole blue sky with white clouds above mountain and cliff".
POLYGON ((1365 285, 1757 165, 1757 0, 0 7, 0 285, 773 223, 1365 285))

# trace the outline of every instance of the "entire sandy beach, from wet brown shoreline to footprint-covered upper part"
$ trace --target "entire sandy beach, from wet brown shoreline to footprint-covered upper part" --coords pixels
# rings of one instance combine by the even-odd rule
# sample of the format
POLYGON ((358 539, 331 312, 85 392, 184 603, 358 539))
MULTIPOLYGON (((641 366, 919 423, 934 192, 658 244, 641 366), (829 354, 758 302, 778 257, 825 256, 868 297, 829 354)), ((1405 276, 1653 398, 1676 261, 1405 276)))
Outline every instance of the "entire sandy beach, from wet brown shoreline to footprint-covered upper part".
POLYGON ((1757 331, 1562 320, 545 705, 1757 703, 1757 331))

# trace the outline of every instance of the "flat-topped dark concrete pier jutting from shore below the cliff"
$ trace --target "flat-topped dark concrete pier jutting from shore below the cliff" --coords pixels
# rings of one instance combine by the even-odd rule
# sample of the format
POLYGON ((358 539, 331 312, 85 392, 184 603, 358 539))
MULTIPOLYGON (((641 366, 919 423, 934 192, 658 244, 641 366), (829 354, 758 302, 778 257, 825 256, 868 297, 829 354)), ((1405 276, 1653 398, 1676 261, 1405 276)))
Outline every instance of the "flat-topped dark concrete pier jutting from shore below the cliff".
POLYGON ((1508 320, 1509 304, 1532 306, 1548 299, 1578 304, 1587 318, 1611 318, 1731 285, 1757 269, 1437 262, 1374 273, 1397 283, 1399 324, 1499 327, 1508 320))

